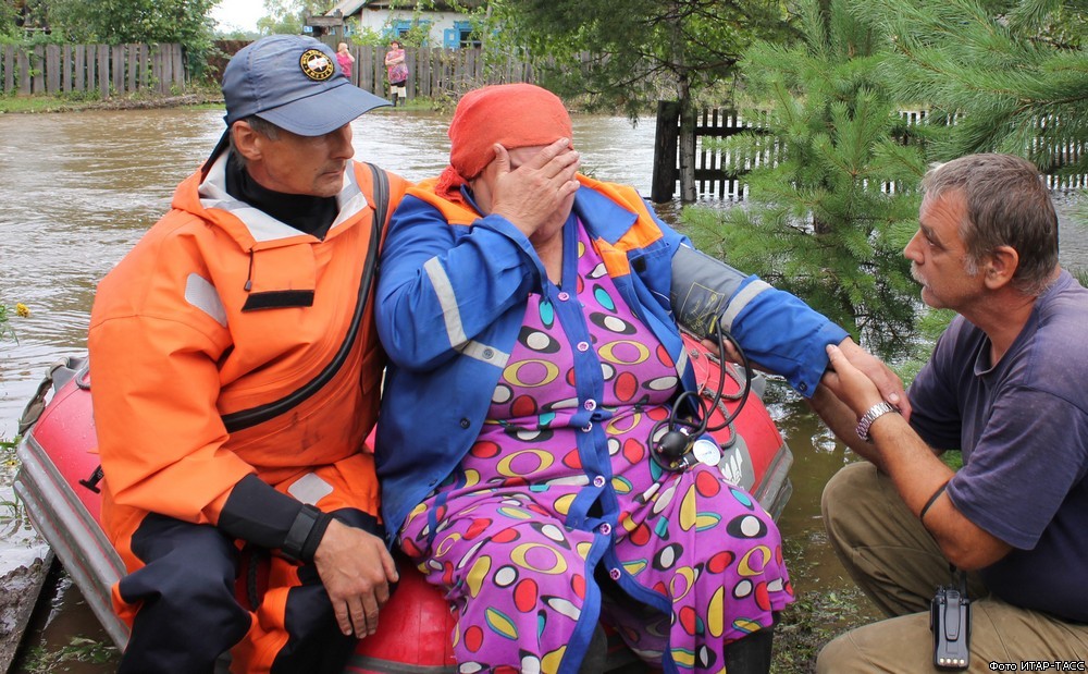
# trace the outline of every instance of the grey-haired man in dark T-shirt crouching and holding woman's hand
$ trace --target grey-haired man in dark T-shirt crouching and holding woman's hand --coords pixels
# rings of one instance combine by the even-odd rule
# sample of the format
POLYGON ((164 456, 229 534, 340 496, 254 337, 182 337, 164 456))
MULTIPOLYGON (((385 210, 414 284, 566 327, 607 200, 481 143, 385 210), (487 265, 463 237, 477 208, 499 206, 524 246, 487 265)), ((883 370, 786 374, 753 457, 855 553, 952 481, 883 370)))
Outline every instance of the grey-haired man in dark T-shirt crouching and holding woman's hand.
POLYGON ((815 406, 868 461, 831 478, 824 519, 889 620, 831 641, 818 671, 932 671, 930 600, 959 585, 950 565, 966 572, 970 671, 1083 671, 1088 291, 1059 266, 1058 218, 1029 161, 970 155, 922 187, 905 255, 923 301, 957 316, 911 384, 910 422, 830 350, 834 371, 815 406), (952 449, 957 471, 938 457, 952 449))

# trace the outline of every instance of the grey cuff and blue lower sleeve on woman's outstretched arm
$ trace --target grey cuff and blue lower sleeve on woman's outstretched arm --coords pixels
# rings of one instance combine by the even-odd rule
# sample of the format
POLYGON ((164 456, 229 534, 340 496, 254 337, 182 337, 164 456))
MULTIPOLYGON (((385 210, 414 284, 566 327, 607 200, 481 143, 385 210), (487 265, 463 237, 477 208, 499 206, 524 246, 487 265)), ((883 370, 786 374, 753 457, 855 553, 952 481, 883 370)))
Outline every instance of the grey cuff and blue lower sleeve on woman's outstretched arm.
POLYGON ((708 338, 717 322, 752 361, 804 396, 816 391, 827 369, 827 345, 850 336, 790 293, 688 246, 672 257, 669 298, 682 328, 708 338))

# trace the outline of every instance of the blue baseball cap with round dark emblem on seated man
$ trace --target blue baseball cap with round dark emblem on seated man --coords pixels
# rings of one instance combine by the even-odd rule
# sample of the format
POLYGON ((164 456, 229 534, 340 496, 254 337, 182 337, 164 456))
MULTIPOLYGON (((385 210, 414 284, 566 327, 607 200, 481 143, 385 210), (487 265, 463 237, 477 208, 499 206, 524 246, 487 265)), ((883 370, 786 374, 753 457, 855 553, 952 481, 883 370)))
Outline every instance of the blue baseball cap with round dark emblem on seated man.
POLYGON ((223 71, 226 126, 257 115, 300 136, 336 131, 390 101, 348 82, 327 45, 270 35, 234 54, 223 71))

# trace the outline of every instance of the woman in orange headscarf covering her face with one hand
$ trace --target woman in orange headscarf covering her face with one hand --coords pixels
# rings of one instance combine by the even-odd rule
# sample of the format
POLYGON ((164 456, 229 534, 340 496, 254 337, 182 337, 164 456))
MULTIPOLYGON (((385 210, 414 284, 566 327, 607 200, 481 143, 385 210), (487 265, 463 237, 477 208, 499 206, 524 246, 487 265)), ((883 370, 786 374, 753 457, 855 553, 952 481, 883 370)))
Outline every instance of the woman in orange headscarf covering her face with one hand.
POLYGON ((793 596, 775 522, 690 446, 659 461, 659 421, 694 388, 670 295, 731 284, 717 318, 798 390, 838 343, 887 394, 901 384, 633 188, 580 175, 571 134, 545 89, 471 91, 450 166, 394 215, 375 444, 390 540, 445 592, 463 671, 601 672, 604 622, 666 672, 766 672, 793 596))

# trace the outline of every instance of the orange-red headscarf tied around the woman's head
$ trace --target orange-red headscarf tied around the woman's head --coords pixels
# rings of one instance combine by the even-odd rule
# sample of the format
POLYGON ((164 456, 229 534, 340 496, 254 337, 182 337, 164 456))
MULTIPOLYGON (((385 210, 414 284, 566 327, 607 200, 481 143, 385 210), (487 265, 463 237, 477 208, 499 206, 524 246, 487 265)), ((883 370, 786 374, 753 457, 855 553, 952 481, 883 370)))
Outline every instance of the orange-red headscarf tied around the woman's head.
POLYGON ((449 123, 449 166, 435 192, 460 201, 460 187, 495 159, 494 145, 507 149, 551 145, 571 138, 570 115, 559 97, 532 84, 498 84, 466 94, 449 123))

